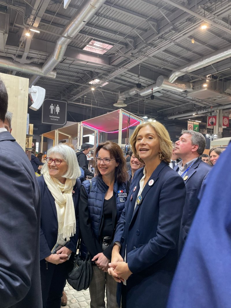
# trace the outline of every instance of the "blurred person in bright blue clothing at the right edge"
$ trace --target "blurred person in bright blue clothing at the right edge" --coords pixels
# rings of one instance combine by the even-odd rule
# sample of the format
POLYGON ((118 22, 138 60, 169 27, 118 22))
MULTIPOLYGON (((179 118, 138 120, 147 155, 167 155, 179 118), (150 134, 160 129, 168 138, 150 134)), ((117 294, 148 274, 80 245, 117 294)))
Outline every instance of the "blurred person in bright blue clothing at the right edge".
POLYGON ((168 308, 231 306, 231 144, 205 180, 168 308))

